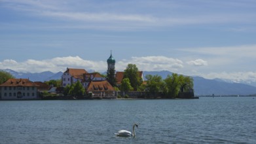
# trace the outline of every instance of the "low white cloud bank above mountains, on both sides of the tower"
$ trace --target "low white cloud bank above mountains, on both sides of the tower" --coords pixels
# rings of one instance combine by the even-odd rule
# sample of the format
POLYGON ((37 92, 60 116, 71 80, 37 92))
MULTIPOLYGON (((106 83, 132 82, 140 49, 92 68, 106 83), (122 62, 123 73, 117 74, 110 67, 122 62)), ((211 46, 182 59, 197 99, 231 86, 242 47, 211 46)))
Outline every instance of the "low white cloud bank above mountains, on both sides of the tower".
MULTIPOLYGON (((141 71, 177 71, 183 68, 183 62, 165 56, 132 57, 131 60, 120 60, 116 63, 117 71, 126 69, 128 63, 134 63, 141 71)), ((0 62, 0 69, 12 69, 20 72, 42 72, 42 71, 64 71, 66 67, 82 68, 104 72, 107 71, 107 62, 83 60, 79 56, 58 57, 48 60, 26 60, 16 62, 15 60, 4 60, 0 62)))

